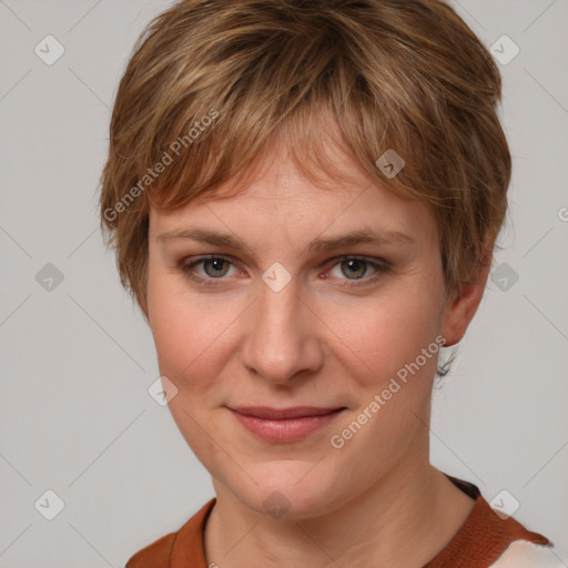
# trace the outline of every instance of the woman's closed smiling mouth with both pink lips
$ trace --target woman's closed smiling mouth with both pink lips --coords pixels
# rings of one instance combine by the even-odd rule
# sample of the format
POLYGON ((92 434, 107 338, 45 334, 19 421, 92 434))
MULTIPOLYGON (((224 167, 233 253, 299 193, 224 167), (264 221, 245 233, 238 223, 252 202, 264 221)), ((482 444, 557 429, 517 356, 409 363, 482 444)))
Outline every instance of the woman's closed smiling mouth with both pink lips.
POLYGON ((295 406, 281 409, 266 406, 227 408, 246 430, 273 443, 301 440, 327 426, 346 409, 345 406, 335 408, 295 406))

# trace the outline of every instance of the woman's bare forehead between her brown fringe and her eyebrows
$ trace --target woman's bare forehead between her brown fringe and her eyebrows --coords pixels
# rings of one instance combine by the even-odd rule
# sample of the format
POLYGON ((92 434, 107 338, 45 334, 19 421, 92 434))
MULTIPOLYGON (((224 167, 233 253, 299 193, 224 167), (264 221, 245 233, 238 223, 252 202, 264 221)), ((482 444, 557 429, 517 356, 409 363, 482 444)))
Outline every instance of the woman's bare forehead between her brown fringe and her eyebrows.
POLYGON ((150 211, 151 235, 187 225, 227 231, 257 229, 266 235, 354 231, 363 226, 426 237, 435 231, 425 205, 403 199, 372 179, 334 139, 320 144, 325 161, 300 161, 274 136, 254 168, 173 211, 150 211), (329 168, 326 168, 329 165, 329 168))

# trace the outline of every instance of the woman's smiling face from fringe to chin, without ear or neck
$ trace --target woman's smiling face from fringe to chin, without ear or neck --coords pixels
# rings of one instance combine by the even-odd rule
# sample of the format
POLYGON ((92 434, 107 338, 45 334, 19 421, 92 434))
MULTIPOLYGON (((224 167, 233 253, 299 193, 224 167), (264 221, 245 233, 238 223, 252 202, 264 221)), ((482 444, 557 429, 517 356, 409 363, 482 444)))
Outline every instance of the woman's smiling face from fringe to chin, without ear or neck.
POLYGON ((263 514, 322 515, 427 462, 418 417, 454 317, 436 225, 337 160, 348 183, 314 185, 276 153, 239 195, 150 215, 171 412, 215 488, 263 514))

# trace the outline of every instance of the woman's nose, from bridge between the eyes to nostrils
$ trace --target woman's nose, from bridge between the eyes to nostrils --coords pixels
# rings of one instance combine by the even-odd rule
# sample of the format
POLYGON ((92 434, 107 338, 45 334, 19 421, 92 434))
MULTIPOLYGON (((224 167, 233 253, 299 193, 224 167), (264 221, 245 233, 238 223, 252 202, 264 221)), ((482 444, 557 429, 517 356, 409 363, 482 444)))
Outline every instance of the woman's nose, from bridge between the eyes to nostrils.
POLYGON ((250 373, 275 384, 301 381, 323 365, 322 322, 297 280, 275 292, 264 282, 245 317, 243 364, 250 373))

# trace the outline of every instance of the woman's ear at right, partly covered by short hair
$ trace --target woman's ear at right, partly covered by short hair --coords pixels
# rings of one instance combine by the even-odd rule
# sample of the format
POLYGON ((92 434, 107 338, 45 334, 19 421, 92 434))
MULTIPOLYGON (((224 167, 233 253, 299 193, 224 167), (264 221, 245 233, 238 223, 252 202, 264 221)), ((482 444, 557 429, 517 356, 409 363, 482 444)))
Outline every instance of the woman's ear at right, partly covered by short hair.
MULTIPOLYGON (((487 248, 486 248, 487 251, 487 248)), ((493 247, 486 252, 468 281, 459 283, 448 298, 442 318, 442 336, 446 338, 444 347, 459 343, 464 337, 469 323, 479 307, 487 284, 487 276, 491 267, 493 247)))

